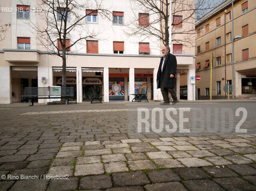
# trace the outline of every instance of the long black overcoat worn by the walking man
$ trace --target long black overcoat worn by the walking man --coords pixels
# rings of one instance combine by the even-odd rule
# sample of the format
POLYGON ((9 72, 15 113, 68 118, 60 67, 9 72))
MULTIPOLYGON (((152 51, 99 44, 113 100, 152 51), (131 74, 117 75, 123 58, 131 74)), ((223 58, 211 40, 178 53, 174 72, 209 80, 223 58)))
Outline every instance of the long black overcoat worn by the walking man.
POLYGON ((161 58, 158 72, 157 72, 157 88, 174 88, 175 85, 175 74, 177 70, 177 60, 173 54, 168 53, 166 59, 164 60, 164 68, 161 72, 161 63, 163 58, 161 58), (174 77, 170 78, 170 74, 174 77))

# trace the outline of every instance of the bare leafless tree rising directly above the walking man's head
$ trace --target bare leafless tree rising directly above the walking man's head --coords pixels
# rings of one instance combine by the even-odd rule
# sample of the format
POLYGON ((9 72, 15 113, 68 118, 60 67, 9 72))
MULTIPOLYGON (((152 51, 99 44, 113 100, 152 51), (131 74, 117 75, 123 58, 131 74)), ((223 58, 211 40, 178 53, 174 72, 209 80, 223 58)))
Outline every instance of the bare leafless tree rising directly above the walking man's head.
MULTIPOLYGON (((194 46, 194 40, 191 35, 195 34, 195 11, 210 10, 213 7, 206 5, 208 0, 172 0, 171 11, 171 42, 183 44, 187 47, 194 46), (182 16, 182 17, 181 17, 182 16), (178 18, 178 19, 177 19, 178 18), (180 27, 183 25, 184 27, 180 27), (182 38, 179 37, 182 35, 182 38), (179 37, 179 38, 178 38, 179 37)), ((141 17, 135 15, 127 24, 128 35, 140 35, 144 38, 155 36, 162 44, 168 45, 170 41, 169 18, 170 18, 170 0, 131 0, 131 7, 134 13, 149 14, 149 24, 139 25, 141 17)))

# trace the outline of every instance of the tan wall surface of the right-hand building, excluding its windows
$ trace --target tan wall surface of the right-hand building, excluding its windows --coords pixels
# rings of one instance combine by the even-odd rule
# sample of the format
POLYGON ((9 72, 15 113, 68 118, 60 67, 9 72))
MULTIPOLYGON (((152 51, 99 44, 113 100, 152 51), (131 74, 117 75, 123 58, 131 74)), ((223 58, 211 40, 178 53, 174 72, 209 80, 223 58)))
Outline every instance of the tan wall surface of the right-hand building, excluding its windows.
MULTIPOLYGON (((211 53, 213 54, 212 64, 212 96, 213 98, 225 98, 223 90, 227 80, 232 79, 232 63, 231 59, 227 58, 228 54, 232 53, 232 42, 227 38, 227 33, 232 30, 231 20, 228 19, 228 12, 231 11, 231 1, 225 1, 219 5, 216 10, 211 11, 203 17, 203 19, 196 22, 196 29, 200 30, 200 36, 195 40, 195 67, 200 63, 200 68, 196 70, 196 75, 201 76, 201 81, 197 83, 197 89, 200 88, 201 98, 209 98, 206 96, 206 88, 210 88, 210 64, 204 67, 206 60, 211 60, 211 53), (225 11, 226 10, 226 11, 225 11), (216 26, 216 19, 220 17, 221 25, 216 26), (209 32, 206 32, 206 26, 209 24, 209 32), (217 46, 216 38, 221 38, 221 44, 217 46), (226 43, 225 43, 226 40, 226 43), (206 50, 206 42, 209 42, 209 50, 206 50), (197 47, 200 46, 198 53, 197 47), (221 57, 221 64, 217 66, 216 58, 221 57), (216 83, 221 82, 221 94, 217 94, 216 83)), ((248 35, 234 41, 234 61, 235 61, 235 96, 246 96, 242 94, 242 73, 244 78, 246 74, 256 77, 256 1, 253 0, 239 0, 234 1, 234 36, 242 36, 242 26, 248 24, 248 35), (242 4, 248 2, 248 11, 242 14, 242 4), (242 50, 249 48, 249 58, 242 59, 242 50), (245 72, 245 71, 248 72, 245 72), (240 78, 239 78, 240 76, 240 78), (237 79, 236 79, 237 77, 237 79), (239 79, 238 79, 239 78, 239 79)), ((232 82, 233 84, 233 82, 232 82)), ((249 94, 248 97, 254 96, 255 91, 249 94)), ((198 95, 197 95, 198 98, 198 95)))

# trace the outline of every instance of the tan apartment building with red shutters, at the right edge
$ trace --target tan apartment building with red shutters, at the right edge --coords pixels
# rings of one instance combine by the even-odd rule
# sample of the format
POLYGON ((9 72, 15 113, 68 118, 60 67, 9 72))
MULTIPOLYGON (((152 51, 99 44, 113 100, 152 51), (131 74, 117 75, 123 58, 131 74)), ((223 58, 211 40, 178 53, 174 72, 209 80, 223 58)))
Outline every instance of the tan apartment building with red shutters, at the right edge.
MULTIPOLYGON (((197 99, 210 98, 212 58, 212 98, 227 98, 225 84, 232 84, 236 98, 256 97, 256 1, 234 0, 234 82, 232 82, 231 0, 196 21, 195 69, 197 99)), ((231 96, 231 94, 230 94, 231 96)))

